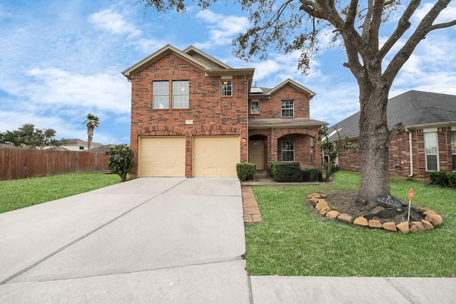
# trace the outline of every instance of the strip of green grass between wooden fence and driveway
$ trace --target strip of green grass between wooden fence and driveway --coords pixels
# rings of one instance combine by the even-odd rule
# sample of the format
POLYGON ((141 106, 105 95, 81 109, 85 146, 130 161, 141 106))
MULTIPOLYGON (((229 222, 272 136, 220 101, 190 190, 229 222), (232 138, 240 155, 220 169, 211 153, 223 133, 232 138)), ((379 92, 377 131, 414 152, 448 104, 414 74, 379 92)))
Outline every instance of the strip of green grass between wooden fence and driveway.
POLYGON ((118 175, 100 173, 63 174, 2 181, 0 182, 0 214, 118 182, 120 182, 118 175))

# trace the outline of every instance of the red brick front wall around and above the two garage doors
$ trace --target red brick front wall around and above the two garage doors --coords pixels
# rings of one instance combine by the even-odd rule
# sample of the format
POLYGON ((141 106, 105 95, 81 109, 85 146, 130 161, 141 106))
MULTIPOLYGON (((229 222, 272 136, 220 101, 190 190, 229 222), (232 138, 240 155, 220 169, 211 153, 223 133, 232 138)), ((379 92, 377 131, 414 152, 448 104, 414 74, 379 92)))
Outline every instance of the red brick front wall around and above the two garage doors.
POLYGON ((245 75, 232 78, 232 96, 222 97, 220 77, 207 77, 203 70, 170 53, 132 77, 130 146, 135 151, 138 174, 138 137, 185 135, 185 175, 192 176, 192 136, 239 135, 240 159, 247 162, 247 98, 245 75), (152 108, 152 82, 170 81, 170 108, 152 108), (189 108, 172 108, 172 80, 189 80, 189 108), (186 120, 193 120, 186 125, 186 120))

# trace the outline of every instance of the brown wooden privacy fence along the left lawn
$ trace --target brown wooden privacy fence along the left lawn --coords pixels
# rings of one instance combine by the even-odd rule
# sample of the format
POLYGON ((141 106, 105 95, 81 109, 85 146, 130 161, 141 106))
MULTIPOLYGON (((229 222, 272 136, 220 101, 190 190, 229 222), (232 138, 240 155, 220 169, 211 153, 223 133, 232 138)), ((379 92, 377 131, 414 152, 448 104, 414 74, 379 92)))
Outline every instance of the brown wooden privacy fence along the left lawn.
POLYGON ((0 180, 108 169, 104 152, 0 147, 0 180))

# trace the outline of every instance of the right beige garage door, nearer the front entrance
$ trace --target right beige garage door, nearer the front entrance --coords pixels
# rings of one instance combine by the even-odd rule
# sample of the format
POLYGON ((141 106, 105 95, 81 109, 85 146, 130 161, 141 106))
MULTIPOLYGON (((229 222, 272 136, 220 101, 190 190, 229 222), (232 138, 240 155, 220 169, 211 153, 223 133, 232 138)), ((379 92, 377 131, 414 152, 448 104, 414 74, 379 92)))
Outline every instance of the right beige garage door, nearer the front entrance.
POLYGON ((239 136, 193 137, 194 177, 237 177, 239 136))

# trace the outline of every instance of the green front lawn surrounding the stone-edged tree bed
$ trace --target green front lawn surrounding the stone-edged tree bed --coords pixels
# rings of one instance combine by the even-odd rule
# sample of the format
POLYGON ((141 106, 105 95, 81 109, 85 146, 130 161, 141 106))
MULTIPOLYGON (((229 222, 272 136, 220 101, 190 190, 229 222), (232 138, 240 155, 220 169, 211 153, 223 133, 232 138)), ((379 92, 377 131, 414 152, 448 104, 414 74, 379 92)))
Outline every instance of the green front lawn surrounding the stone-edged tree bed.
POLYGON ((391 181, 391 194, 444 216, 442 226, 400 234, 319 216, 311 192, 357 190, 359 174, 337 172, 335 182, 252 187, 263 222, 245 227, 247 269, 253 276, 449 277, 456 273, 456 189, 391 181))

